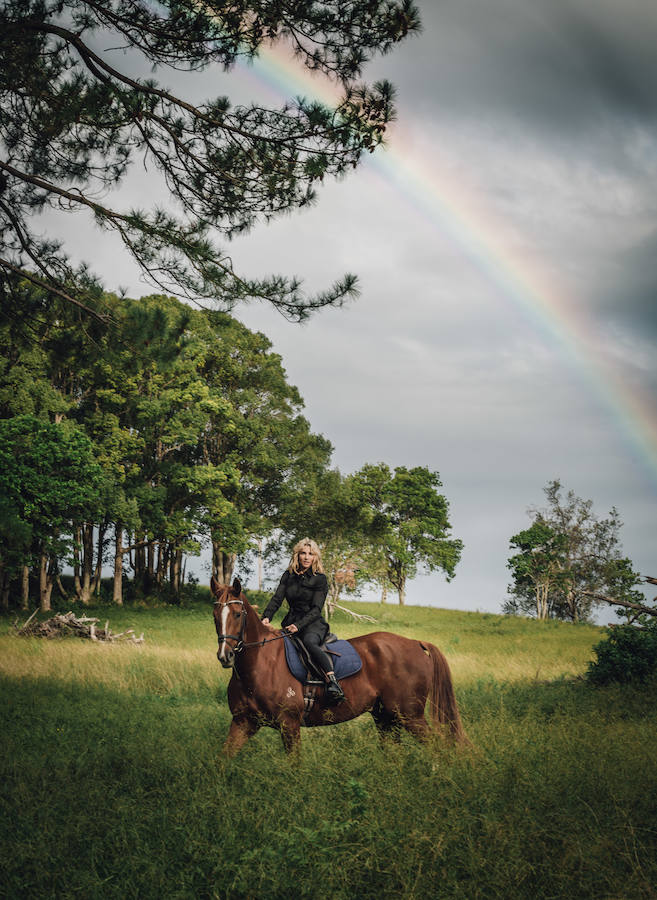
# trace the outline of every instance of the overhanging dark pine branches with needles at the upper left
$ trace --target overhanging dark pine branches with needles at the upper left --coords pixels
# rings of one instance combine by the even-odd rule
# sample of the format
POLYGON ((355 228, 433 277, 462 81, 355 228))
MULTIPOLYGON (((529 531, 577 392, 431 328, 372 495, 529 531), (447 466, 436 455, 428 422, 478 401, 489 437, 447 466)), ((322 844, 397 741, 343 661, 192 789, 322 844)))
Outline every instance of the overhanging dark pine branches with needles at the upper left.
MULTIPOLYGON (((302 207, 326 177, 358 165, 394 115, 388 82, 364 64, 417 31, 411 0, 220 3, 208 0, 6 0, 0 9, 0 289, 20 275, 97 308, 94 279, 61 242, 40 235, 49 207, 86 211, 158 290, 230 309, 263 299, 300 319, 353 294, 345 275, 307 296, 298 279, 250 279, 219 239, 302 207), (284 42, 342 88, 334 108, 297 98, 278 109, 179 96, 154 69, 229 69, 284 42), (119 51, 119 52, 116 52, 119 51), (138 73, 149 73, 148 76, 138 73), (166 183, 162 206, 112 203, 140 160, 166 183)), ((181 79, 179 78, 178 81, 181 79)))

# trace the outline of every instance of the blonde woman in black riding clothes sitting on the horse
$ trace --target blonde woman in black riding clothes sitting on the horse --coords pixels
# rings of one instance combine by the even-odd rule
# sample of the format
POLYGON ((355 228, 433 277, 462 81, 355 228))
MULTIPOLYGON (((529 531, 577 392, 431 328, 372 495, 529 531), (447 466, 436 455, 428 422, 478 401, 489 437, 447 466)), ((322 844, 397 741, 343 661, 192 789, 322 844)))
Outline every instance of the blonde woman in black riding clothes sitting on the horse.
POLYGON ((344 693, 335 677, 331 657, 322 650, 329 633, 328 623, 322 616, 322 608, 328 593, 328 582, 322 568, 319 547, 310 538, 303 538, 295 545, 292 559, 283 572, 274 596, 262 615, 263 625, 269 625, 272 616, 286 599, 289 611, 282 622, 288 634, 298 634, 310 658, 326 679, 326 699, 340 703, 344 693))

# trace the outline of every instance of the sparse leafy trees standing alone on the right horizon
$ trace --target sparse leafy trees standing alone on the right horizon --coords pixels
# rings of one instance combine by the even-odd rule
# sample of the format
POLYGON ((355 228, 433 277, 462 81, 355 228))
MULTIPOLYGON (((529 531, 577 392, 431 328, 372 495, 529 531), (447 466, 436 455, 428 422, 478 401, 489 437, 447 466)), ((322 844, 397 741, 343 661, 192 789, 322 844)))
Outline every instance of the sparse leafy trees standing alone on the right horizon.
POLYGON ((505 611, 576 622, 589 617, 599 595, 641 602, 640 576, 621 552, 617 510, 600 519, 591 500, 573 491, 564 496, 559 481, 545 496, 547 507, 530 509, 531 526, 510 539, 518 552, 508 562, 513 582, 505 611))

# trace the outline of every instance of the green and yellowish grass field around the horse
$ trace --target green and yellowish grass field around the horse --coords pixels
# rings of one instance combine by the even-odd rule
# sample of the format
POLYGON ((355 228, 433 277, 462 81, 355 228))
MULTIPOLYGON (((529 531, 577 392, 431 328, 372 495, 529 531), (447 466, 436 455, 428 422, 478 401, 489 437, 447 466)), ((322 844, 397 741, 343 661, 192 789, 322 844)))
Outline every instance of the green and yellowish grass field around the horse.
POLYGON ((382 747, 366 716, 227 764, 209 604, 94 613, 141 647, 5 620, 1 895, 657 897, 655 685, 582 680, 600 629, 357 608, 444 651, 471 750, 382 747))

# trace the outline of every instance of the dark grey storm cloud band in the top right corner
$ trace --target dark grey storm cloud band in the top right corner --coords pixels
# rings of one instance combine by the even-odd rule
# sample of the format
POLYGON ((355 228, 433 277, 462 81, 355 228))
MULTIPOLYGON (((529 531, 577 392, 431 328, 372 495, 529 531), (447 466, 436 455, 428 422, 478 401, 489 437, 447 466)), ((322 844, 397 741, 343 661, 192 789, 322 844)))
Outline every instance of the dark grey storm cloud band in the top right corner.
POLYGON ((381 71, 404 68, 403 104, 439 116, 504 114, 573 134, 657 111, 653 0, 446 0, 381 71))

